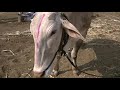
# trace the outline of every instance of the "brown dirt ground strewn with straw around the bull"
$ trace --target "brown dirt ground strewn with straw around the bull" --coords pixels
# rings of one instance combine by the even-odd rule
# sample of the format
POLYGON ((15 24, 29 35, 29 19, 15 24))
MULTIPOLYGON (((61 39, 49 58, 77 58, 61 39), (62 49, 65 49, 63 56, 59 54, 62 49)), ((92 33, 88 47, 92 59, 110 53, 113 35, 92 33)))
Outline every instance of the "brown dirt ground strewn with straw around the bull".
MULTIPOLYGON (((0 78, 31 78, 34 43, 29 25, 18 23, 16 12, 0 12, 0 78)), ((87 40, 77 57, 78 67, 85 73, 73 75, 63 57, 57 78, 120 77, 120 12, 96 12, 87 40)))

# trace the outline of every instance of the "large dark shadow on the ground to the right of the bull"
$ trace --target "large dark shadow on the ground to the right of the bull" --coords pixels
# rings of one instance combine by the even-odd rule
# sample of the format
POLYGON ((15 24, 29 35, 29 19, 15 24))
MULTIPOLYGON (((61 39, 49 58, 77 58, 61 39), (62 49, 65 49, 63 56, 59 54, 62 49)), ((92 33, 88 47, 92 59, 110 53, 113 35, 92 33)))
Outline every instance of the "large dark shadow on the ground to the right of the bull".
POLYGON ((120 77, 119 44, 119 42, 107 39, 92 40, 85 48, 92 48, 96 59, 79 66, 79 69, 83 71, 97 70, 103 78, 120 77))

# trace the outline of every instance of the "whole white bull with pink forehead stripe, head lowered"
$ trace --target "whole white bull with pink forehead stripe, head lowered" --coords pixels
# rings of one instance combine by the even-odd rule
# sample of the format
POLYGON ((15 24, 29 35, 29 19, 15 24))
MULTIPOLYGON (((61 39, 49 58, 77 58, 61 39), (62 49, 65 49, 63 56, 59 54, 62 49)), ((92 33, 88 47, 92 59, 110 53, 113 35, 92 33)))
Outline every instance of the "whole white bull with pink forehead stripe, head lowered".
MULTIPOLYGON (((71 58, 76 64, 77 52, 85 40, 91 24, 92 12, 37 12, 33 18, 30 31, 34 38, 34 76, 49 76, 54 69, 58 75, 59 59, 56 66, 51 62, 59 49, 62 32, 65 31, 71 38, 75 38, 71 51, 71 58), (67 18, 67 19, 66 19, 67 18)), ((55 62, 55 61, 54 61, 55 62)), ((78 71, 72 67, 74 73, 78 71)))

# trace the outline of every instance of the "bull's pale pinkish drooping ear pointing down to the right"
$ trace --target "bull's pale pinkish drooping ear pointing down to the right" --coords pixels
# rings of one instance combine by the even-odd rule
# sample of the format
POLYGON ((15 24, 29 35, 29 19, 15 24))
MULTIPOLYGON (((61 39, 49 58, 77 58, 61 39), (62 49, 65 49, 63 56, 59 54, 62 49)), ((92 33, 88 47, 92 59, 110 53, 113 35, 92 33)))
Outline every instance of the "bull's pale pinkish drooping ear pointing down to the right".
POLYGON ((81 39, 84 42, 86 42, 86 39, 81 35, 78 29, 73 24, 71 24, 67 19, 65 20, 61 19, 61 23, 62 26, 66 28, 65 31, 69 36, 73 38, 81 39))

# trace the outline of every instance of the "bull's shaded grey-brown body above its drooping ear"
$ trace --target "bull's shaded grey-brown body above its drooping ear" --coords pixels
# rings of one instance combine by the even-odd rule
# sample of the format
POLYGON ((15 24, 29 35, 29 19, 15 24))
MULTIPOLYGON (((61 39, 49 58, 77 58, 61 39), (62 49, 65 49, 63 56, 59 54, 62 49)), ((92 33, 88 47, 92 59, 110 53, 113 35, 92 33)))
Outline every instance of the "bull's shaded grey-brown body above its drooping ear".
POLYGON ((81 32, 89 28, 93 12, 64 12, 69 21, 81 32))

